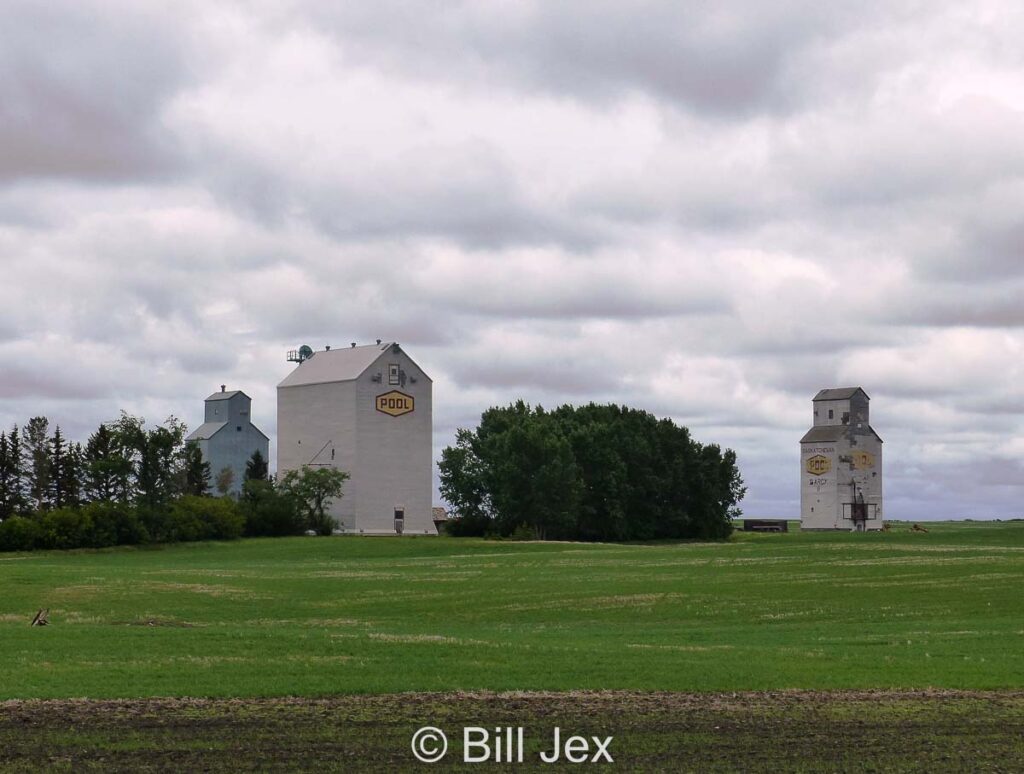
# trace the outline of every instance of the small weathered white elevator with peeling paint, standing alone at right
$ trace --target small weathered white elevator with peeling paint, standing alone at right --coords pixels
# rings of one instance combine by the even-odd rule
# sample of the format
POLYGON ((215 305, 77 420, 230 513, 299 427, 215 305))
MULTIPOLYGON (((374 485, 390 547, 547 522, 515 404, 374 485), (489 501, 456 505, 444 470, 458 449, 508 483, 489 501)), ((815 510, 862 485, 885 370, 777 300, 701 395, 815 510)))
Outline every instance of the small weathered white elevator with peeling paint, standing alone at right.
POLYGON ((821 390, 800 439, 802 529, 882 529, 882 438, 860 387, 821 390))

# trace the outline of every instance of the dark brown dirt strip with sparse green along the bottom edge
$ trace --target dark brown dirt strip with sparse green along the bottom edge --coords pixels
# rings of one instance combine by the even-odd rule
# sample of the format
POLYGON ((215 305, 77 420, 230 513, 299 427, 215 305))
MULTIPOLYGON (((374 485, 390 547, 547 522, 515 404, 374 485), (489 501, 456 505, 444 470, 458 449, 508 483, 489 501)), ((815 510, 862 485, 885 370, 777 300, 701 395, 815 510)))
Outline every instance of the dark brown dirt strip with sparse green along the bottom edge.
MULTIPOLYGON (((146 699, 0 703, 5 771, 480 771, 466 726, 525 727, 524 764, 553 729, 611 735, 630 771, 1021 771, 1024 693, 462 693, 328 699, 146 699), (414 758, 421 726, 447 756, 414 758)), ((475 751, 479 752, 477 747, 475 751)), ((612 768, 607 763, 601 766, 612 768)), ((579 766, 573 767, 579 768, 579 766)), ((591 768, 591 767, 584 767, 591 768)))

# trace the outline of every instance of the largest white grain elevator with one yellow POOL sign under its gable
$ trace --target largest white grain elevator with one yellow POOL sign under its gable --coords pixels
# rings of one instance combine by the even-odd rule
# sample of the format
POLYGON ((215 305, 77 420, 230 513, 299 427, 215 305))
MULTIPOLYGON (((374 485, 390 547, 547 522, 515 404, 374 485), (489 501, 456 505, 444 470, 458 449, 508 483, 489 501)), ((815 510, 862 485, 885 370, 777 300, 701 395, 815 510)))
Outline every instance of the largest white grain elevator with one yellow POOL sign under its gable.
POLYGON ((288 359, 298 367, 278 385, 278 474, 348 473, 331 506, 345 532, 436 534, 430 377, 394 342, 288 359))

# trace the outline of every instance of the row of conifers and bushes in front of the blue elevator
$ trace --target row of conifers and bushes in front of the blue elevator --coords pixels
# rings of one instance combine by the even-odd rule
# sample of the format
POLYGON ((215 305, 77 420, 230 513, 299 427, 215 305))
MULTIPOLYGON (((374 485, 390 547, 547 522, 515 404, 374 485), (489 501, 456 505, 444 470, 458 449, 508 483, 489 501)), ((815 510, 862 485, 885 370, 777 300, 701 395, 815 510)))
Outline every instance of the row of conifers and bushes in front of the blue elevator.
MULTIPOLYGON (((0 551, 330 534, 328 510, 348 475, 333 468, 268 475, 257 450, 238 498, 211 494, 210 465, 174 417, 147 428, 125 412, 83 444, 45 417, 0 432, 0 551)), ((229 469, 225 469, 229 470, 229 469)))

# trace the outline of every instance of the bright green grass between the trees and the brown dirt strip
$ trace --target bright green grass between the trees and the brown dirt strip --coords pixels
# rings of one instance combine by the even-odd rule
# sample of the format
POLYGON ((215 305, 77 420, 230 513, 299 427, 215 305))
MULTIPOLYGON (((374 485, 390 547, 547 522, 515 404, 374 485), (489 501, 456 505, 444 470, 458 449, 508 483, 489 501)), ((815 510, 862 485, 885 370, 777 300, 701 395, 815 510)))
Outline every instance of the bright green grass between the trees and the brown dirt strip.
POLYGON ((1024 687, 1024 522, 928 526, 5 554, 0 698, 1024 687))

